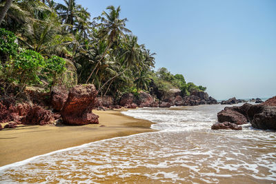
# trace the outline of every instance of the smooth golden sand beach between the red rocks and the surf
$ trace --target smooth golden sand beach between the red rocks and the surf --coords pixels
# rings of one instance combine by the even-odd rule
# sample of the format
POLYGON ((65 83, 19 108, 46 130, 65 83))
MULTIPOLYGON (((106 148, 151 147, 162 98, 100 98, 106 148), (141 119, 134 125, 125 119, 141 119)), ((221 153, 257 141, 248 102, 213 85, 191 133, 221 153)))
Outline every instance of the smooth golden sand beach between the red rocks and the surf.
POLYGON ((99 115, 99 125, 23 125, 1 130, 0 166, 84 143, 155 131, 150 129, 152 122, 125 116, 119 110, 93 112, 99 115))

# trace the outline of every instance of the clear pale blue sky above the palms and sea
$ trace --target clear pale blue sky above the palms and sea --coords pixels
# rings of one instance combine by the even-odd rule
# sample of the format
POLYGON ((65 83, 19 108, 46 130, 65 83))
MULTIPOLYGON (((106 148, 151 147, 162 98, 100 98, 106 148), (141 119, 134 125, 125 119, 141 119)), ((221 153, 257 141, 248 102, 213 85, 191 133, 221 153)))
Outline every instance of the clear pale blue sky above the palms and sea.
MULTIPOLYGON (((62 2, 58 0, 58 2, 62 2)), ((77 0, 92 17, 121 19, 155 56, 155 70, 183 74, 215 99, 276 95, 275 0, 77 0)))

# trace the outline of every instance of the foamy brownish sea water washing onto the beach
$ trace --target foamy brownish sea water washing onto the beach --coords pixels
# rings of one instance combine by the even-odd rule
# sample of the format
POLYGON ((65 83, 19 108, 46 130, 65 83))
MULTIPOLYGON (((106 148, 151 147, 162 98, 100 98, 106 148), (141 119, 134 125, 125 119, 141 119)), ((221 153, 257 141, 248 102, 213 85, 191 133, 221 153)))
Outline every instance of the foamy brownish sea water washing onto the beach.
POLYGON ((3 166, 0 183, 276 183, 276 132, 250 124, 242 131, 210 130, 224 107, 128 110, 123 114, 155 122, 159 132, 3 166))

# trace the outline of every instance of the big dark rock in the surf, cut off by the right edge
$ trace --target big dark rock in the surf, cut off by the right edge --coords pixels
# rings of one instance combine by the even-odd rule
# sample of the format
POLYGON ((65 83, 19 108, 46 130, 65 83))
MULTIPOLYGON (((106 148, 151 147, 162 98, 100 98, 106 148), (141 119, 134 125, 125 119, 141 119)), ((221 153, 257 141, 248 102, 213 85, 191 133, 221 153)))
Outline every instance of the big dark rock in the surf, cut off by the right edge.
POLYGON ((254 114, 250 123, 262 130, 276 130, 276 107, 264 106, 262 112, 254 114))

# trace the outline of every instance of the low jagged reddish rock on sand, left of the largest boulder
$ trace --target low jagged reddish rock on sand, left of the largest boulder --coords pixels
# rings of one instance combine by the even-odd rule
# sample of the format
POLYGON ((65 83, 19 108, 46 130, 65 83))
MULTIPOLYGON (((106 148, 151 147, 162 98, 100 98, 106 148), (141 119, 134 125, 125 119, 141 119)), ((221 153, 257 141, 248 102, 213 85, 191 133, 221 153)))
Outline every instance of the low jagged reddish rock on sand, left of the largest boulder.
POLYGON ((45 110, 37 105, 32 106, 28 114, 21 119, 24 125, 47 125, 54 121, 55 117, 50 110, 45 110))

